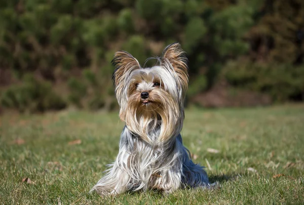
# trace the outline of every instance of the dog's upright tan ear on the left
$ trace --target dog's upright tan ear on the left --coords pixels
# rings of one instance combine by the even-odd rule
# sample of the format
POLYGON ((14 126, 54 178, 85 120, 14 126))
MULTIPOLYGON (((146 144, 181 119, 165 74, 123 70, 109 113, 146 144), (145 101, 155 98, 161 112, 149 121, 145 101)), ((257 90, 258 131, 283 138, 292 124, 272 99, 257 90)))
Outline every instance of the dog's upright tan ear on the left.
POLYGON ((138 61, 125 51, 118 51, 114 54, 112 65, 116 68, 112 76, 113 83, 116 87, 124 80, 126 75, 140 68, 138 61))

